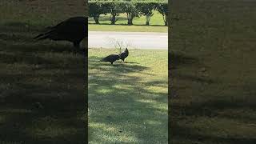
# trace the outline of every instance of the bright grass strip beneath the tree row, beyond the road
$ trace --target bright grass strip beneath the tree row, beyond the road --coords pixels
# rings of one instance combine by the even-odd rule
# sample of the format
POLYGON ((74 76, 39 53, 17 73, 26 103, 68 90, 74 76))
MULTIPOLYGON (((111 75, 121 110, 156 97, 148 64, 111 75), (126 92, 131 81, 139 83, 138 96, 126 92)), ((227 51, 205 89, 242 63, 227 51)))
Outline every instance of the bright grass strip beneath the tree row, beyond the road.
POLYGON ((102 14, 99 21, 100 25, 94 24, 94 18, 89 18, 89 30, 91 31, 129 31, 129 32, 161 32, 167 33, 168 27, 164 26, 162 14, 154 11, 154 15, 150 19, 150 26, 145 26, 146 18, 134 18, 134 25, 127 26, 126 14, 120 14, 116 25, 110 25, 110 15, 102 14))

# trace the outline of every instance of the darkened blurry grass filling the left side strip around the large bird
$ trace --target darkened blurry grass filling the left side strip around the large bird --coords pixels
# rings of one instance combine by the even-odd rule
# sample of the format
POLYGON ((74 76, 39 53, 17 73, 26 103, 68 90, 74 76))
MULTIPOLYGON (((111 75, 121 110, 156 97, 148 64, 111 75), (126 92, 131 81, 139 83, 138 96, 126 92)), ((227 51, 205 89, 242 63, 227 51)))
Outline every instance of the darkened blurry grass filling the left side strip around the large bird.
POLYGON ((86 142, 84 56, 69 42, 32 39, 79 14, 67 3, 0 2, 1 144, 86 142))

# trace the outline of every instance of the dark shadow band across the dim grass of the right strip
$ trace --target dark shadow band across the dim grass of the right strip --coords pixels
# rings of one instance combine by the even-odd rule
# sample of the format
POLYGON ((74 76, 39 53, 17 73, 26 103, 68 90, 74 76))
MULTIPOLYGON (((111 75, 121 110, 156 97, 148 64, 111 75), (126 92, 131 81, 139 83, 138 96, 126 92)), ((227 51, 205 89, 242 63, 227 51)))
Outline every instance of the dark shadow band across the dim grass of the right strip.
POLYGON ((250 112, 246 112, 246 110, 256 110, 255 102, 246 102, 241 98, 230 100, 230 96, 228 95, 215 99, 214 95, 207 95, 206 97, 213 99, 207 98, 207 100, 202 102, 190 102, 190 104, 186 106, 173 103, 172 114, 191 117, 230 118, 240 122, 256 121, 254 115, 250 115, 250 112), (234 115, 239 113, 242 113, 242 115, 234 115))

